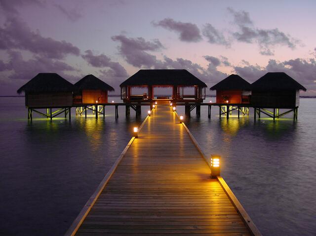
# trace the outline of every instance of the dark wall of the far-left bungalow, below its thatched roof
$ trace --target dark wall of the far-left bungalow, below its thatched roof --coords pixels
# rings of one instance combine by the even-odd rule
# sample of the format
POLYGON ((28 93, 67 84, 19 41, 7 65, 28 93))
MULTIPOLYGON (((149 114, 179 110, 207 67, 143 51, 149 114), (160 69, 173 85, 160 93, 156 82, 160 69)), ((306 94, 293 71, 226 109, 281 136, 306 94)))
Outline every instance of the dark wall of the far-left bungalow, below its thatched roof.
POLYGON ((71 107, 73 105, 73 92, 27 93, 25 105, 32 108, 71 107))

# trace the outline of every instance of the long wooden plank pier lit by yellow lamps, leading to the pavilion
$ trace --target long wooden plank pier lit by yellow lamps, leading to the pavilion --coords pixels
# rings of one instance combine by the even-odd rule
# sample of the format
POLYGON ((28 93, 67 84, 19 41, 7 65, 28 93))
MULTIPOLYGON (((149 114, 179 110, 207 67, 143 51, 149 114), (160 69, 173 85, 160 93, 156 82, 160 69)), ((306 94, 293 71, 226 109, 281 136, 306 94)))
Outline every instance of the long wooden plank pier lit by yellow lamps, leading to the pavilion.
POLYGON ((135 131, 65 236, 261 235, 169 104, 135 131))

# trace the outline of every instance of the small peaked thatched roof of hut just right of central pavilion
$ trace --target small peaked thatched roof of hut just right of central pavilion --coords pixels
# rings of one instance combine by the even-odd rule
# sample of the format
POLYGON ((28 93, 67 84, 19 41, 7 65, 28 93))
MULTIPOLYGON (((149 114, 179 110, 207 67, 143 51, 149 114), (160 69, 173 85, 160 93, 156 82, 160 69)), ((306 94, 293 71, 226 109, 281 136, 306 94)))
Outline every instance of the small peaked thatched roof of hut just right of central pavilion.
POLYGON ((238 75, 230 75, 210 88, 210 90, 251 90, 251 85, 238 75))

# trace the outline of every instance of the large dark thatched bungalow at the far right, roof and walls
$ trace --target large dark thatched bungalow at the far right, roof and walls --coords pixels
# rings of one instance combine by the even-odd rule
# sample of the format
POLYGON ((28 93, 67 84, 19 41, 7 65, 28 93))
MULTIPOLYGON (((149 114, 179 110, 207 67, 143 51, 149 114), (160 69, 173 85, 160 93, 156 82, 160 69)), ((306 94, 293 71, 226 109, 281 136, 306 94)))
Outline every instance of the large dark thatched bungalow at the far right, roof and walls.
POLYGON ((295 108, 300 90, 306 88, 284 72, 269 72, 251 84, 251 105, 263 108, 295 108))

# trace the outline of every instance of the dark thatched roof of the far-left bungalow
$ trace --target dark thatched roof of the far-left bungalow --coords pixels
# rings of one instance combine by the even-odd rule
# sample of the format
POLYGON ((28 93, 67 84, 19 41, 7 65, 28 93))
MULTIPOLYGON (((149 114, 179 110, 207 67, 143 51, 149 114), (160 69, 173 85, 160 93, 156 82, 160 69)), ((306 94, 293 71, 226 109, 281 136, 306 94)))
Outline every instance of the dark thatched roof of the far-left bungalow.
POLYGON ((74 85, 56 73, 39 73, 17 90, 17 93, 72 92, 74 85))

